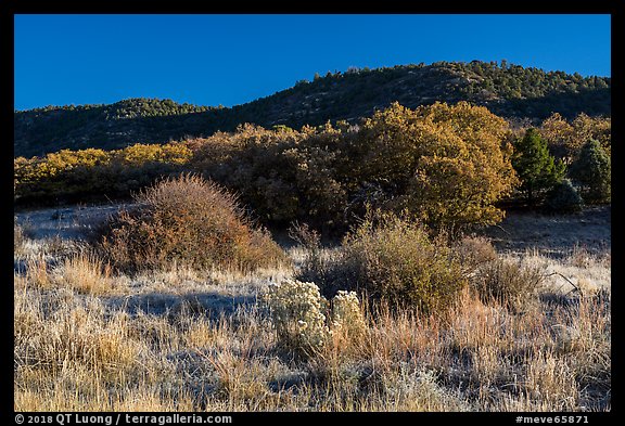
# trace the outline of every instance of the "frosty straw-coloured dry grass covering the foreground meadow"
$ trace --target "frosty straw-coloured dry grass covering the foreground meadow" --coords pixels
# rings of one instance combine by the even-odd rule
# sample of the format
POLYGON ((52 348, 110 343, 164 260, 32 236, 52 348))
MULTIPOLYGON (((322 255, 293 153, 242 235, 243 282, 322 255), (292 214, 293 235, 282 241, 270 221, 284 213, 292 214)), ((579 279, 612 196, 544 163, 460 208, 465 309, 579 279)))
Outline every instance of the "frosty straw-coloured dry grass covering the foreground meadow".
POLYGON ((58 243, 15 254, 16 411, 611 409, 605 256, 499 255, 595 291, 551 275, 518 310, 470 287, 447 317, 363 307, 359 338, 345 328, 296 360, 258 297, 290 268, 127 276, 58 243))

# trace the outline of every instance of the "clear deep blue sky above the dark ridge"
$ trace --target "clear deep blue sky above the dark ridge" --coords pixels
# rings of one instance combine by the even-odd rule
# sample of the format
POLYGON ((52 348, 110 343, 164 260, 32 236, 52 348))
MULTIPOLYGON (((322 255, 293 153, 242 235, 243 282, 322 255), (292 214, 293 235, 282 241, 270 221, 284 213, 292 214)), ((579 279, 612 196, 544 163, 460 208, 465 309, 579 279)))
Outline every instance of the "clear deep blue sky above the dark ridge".
POLYGON ((15 15, 15 108, 232 106, 315 73, 500 61, 610 76, 610 15, 15 15))

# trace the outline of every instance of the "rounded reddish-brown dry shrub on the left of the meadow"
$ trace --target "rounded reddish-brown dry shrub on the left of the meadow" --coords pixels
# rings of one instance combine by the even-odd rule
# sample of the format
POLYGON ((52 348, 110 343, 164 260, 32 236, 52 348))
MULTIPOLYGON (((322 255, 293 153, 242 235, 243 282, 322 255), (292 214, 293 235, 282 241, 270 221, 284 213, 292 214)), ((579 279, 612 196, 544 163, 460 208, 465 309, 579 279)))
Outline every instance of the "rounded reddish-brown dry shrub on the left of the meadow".
POLYGON ((234 196, 197 176, 168 178, 136 196, 105 228, 100 247, 120 270, 178 266, 242 272, 284 261, 269 234, 252 227, 234 196))

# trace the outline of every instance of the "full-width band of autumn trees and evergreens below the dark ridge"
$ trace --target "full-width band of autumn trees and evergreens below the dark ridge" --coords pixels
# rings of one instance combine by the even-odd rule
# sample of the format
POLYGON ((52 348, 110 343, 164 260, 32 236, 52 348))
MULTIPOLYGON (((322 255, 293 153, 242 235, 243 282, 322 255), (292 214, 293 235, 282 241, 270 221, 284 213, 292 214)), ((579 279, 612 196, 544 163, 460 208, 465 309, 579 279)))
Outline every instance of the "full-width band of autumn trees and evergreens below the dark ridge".
POLYGON ((512 129, 465 102, 416 109, 396 103, 358 125, 243 125, 165 145, 18 157, 15 197, 18 204, 125 197, 191 171, 238 194, 264 223, 340 230, 373 208, 456 232, 498 222, 506 199, 562 211, 574 209, 566 205, 571 191, 586 203, 609 201, 609 121, 587 116, 512 129), (570 128, 585 129, 587 141, 579 145, 570 128))

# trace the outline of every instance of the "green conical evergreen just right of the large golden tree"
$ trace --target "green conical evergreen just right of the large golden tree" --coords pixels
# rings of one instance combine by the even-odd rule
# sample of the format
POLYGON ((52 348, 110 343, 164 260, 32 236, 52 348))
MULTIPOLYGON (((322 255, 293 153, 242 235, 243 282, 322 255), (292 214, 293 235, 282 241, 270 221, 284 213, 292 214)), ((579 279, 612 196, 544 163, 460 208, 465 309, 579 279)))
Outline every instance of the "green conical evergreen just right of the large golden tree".
POLYGON ((535 203, 537 194, 559 183, 566 169, 564 163, 556 162, 549 154, 547 141, 534 128, 527 129, 525 135, 514 143, 512 167, 521 179, 521 191, 531 205, 535 203))

